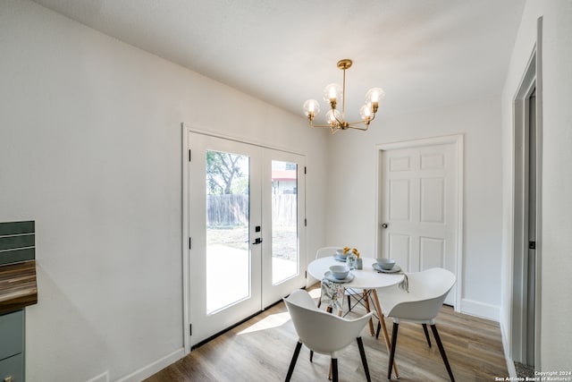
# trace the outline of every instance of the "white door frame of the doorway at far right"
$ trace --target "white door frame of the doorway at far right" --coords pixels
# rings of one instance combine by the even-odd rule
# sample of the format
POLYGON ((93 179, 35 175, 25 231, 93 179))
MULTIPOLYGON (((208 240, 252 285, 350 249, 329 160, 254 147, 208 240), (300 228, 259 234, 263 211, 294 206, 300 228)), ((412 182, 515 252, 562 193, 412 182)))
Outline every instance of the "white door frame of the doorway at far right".
POLYGON ((526 185, 528 170, 525 163, 528 145, 528 98, 535 89, 536 97, 536 248, 534 269, 534 369, 542 369, 541 359, 541 272, 542 272, 542 165, 543 165, 543 81, 542 81, 542 30, 543 18, 537 21, 536 44, 526 64, 523 77, 513 98, 512 130, 512 183, 510 234, 510 294, 509 294, 509 354, 511 361, 526 363, 523 345, 526 343, 526 290, 527 272, 523 253, 528 242, 528 199, 526 185), (520 149, 523 147, 523 149, 520 149))

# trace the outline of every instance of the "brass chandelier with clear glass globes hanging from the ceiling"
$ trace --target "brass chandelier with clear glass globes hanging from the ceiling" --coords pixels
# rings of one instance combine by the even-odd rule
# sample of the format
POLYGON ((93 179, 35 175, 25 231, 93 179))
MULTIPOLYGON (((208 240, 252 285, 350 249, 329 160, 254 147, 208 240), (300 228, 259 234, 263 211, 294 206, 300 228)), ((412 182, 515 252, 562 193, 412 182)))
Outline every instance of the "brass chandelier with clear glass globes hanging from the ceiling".
POLYGON ((351 60, 345 58, 338 61, 338 69, 343 71, 343 87, 337 83, 331 83, 324 89, 324 100, 330 104, 330 110, 325 115, 326 123, 314 124, 315 115, 320 112, 320 104, 315 99, 308 99, 304 103, 304 115, 310 123, 310 127, 329 127, 334 134, 339 130, 356 129, 365 132, 369 129, 369 123, 375 118, 380 102, 385 98, 385 92, 381 88, 369 89, 366 93, 366 105, 359 109, 361 121, 347 122, 346 118, 346 71, 351 67, 351 60), (341 112, 337 109, 341 102, 341 112))

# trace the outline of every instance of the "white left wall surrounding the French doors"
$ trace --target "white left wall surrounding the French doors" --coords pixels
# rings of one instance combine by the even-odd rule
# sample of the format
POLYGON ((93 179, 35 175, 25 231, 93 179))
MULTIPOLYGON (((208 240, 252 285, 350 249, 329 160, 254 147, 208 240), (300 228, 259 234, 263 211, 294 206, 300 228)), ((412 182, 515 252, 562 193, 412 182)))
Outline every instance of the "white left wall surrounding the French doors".
POLYGON ((326 141, 303 117, 28 1, 0 3, 0 52, 0 221, 37 222, 28 381, 139 380, 181 355, 183 122, 307 154, 322 245, 326 141))

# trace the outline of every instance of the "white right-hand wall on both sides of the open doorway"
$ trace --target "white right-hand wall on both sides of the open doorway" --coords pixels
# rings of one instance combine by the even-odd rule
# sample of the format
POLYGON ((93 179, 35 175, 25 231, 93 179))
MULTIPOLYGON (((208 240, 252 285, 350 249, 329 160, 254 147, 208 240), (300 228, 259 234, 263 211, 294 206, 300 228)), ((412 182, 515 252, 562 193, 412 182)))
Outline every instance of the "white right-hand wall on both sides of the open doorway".
MULTIPOLYGON (((512 98, 523 77, 543 16, 543 182, 541 249, 541 360, 536 369, 569 370, 572 365, 572 2, 529 0, 518 30, 502 94, 503 136, 503 332, 510 335, 512 98)), ((508 341, 509 343, 510 341, 508 341)))

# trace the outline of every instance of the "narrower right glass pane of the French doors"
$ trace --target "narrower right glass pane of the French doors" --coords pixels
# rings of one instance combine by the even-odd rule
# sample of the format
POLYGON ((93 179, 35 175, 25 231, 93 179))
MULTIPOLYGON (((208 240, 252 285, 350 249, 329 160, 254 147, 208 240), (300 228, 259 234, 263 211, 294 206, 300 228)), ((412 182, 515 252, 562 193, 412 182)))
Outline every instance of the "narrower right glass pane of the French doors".
POLYGON ((298 274, 298 165, 273 160, 272 284, 298 274))

